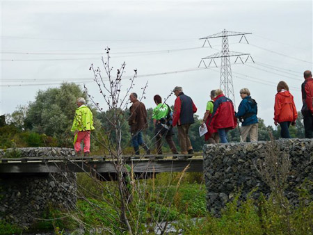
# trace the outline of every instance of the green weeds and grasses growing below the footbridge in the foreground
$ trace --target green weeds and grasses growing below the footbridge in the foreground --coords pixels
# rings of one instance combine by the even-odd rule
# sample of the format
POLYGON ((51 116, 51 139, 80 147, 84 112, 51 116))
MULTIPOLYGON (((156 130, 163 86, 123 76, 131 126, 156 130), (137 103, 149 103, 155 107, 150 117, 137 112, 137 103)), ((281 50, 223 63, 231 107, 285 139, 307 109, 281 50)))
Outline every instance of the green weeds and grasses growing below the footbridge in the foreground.
MULTIPOLYGON (((136 234, 151 234, 156 225, 153 220, 161 221, 164 214, 168 220, 175 220, 171 225, 177 232, 168 234, 288 234, 285 224, 284 211, 280 204, 270 197, 268 200, 261 196, 258 200, 251 197, 245 202, 239 202, 239 195, 227 204, 220 218, 211 216, 206 211, 206 190, 201 184, 201 174, 187 173, 176 191, 179 173, 172 174, 171 180, 168 173, 157 175, 156 179, 147 179, 145 200, 141 201, 136 211, 132 211, 132 225, 136 219, 141 219, 141 227, 136 234), (198 182, 200 181, 200 184, 198 182), (169 184, 168 184, 169 183, 169 184), (172 199, 174 199, 173 203, 172 199), (240 204, 240 206, 239 206, 240 204), (138 209, 139 208, 139 209, 138 209), (191 220, 191 218, 196 218, 191 220), (149 224, 153 226, 149 226, 149 224), (145 225, 145 226, 143 226, 145 225)), ((69 234, 64 231, 75 231, 78 227, 84 229, 85 234, 122 234, 112 225, 111 220, 118 217, 112 205, 104 202, 102 197, 109 197, 99 192, 97 184, 86 175, 78 177, 78 184, 86 186, 84 194, 88 200, 77 202, 77 211, 72 213, 56 209, 49 210, 45 215, 47 220, 38 221, 33 229, 54 230, 56 233, 69 234)), ((102 182, 108 187, 113 187, 115 182, 102 182)), ((312 186, 312 184, 311 184, 312 186)), ((313 202, 312 195, 307 189, 299 191, 300 204, 290 210, 291 234, 313 234, 313 202)), ((136 203, 134 198, 134 203, 136 203)), ((117 225, 117 224, 116 224, 117 225)), ((22 229, 0 222, 0 234, 17 234, 22 229)), ((72 233, 73 234, 73 233, 72 233)), ((75 232, 74 232, 75 234, 75 232)))

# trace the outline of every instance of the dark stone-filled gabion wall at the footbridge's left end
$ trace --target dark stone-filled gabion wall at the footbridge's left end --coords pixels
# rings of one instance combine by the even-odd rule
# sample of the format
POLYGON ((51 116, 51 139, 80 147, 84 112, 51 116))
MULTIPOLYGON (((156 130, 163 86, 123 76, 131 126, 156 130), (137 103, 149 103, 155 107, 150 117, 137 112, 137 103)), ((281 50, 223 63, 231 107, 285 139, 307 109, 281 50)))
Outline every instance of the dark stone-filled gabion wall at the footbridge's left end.
MULTIPOLYGON (((74 156, 74 149, 30 147, 0 149, 0 159, 15 151, 20 157, 74 156)), ((11 156, 12 157, 12 156, 11 156)), ((77 202, 77 181, 74 172, 10 174, 0 178, 0 220, 29 227, 47 215, 49 207, 70 211, 77 202)))

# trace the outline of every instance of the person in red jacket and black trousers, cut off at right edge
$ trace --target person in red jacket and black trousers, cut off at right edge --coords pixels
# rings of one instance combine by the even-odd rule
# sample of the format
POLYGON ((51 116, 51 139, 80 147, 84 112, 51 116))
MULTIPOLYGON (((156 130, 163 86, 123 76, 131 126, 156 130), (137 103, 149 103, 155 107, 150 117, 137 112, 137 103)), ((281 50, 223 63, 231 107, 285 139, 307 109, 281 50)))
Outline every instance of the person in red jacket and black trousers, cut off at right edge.
POLYGON ((305 126, 305 138, 313 138, 313 79, 312 72, 306 70, 303 73, 305 81, 302 83, 301 92, 303 106, 301 113, 305 126))

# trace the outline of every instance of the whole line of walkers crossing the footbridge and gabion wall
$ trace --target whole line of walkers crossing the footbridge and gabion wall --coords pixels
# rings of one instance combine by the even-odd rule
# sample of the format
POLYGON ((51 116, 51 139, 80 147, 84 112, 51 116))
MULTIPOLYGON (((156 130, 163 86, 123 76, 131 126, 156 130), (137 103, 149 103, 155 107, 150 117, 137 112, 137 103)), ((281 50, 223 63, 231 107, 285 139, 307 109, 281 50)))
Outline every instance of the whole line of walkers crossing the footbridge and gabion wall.
MULTIPOLYGON (((305 126, 305 138, 313 138, 313 79, 312 72, 304 72, 305 81, 301 86, 303 114, 305 126)), ((154 123, 154 137, 157 154, 162 154, 161 142, 165 137, 172 154, 178 154, 177 147, 172 140, 173 128, 177 126, 179 145, 181 154, 193 154, 193 147, 188 136, 188 130, 195 122, 193 113, 197 107, 191 97, 184 94, 182 87, 176 86, 173 90, 176 99, 174 111, 165 102, 162 103, 160 95, 154 95, 154 102, 157 105, 152 112, 154 123)), ((239 132, 241 139, 245 142, 250 137, 250 141, 257 141, 258 136, 258 119, 257 119, 257 102, 252 99, 248 88, 240 90, 242 98, 239 104, 238 112, 234 111, 232 100, 223 95, 220 89, 211 90, 211 100, 207 102, 206 112, 204 113, 202 125, 206 125, 207 133, 204 139, 208 143, 227 143, 227 131, 237 127, 241 122, 239 132)), ((143 141, 143 130, 147 128, 147 111, 145 105, 138 100, 136 93, 129 95, 132 105, 129 109, 130 116, 128 119, 131 131, 131 143, 134 147, 134 153, 139 154, 139 148, 145 149, 146 154, 150 154, 150 149, 143 141)), ((90 148, 90 130, 93 130, 93 116, 89 108, 85 106, 86 101, 83 98, 77 100, 77 111, 74 117, 72 131, 75 132, 74 148, 76 152, 81 152, 80 143, 83 140, 85 147, 83 152, 88 156, 90 148), (79 121, 77 121, 79 120, 79 121), (83 123, 83 127, 77 123, 83 123)), ((290 138, 289 126, 296 124, 297 119, 296 106, 294 97, 289 92, 286 82, 280 81, 277 86, 274 106, 274 124, 280 124, 282 138, 290 138)), ((239 128, 239 127, 238 127, 239 128)))

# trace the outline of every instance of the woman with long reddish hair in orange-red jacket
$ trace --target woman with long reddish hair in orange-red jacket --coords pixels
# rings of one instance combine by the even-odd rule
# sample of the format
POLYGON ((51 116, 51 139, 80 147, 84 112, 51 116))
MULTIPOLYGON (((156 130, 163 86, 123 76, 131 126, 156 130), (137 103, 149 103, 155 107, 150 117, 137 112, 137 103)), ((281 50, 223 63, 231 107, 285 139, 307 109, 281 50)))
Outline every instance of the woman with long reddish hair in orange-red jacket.
POLYGON ((294 97, 289 92, 289 87, 284 81, 280 81, 277 86, 274 106, 274 124, 280 124, 280 137, 290 138, 289 126, 296 124, 298 113, 294 105, 294 97))

